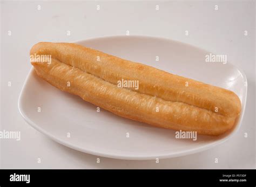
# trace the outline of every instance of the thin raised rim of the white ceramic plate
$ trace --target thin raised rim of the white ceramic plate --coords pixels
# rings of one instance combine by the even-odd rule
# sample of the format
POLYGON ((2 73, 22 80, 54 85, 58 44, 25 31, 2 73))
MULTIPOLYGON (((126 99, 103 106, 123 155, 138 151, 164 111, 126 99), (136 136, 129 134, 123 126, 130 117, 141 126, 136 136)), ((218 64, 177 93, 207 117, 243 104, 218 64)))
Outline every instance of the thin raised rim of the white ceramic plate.
MULTIPOLYGON (((141 35, 130 35, 130 36, 111 35, 111 36, 93 37, 93 38, 87 38, 87 39, 82 39, 82 40, 76 40, 76 41, 73 41, 71 43, 83 43, 85 41, 96 40, 96 39, 105 39, 105 38, 111 39, 111 38, 129 38, 129 37, 168 40, 168 41, 170 41, 172 43, 174 42, 174 43, 190 46, 190 47, 196 48, 196 49, 198 49, 200 51, 204 51, 204 52, 210 53, 210 52, 208 52, 208 51, 206 51, 204 49, 201 49, 200 47, 193 46, 191 44, 186 44, 186 43, 183 43, 181 41, 172 40, 170 38, 146 36, 146 35, 143 35, 143 36, 141 36, 141 35)), ((240 72, 240 74, 242 75, 243 80, 247 82, 246 74, 244 73, 244 71, 241 70, 241 68, 239 68, 236 65, 231 64, 230 62, 228 62, 228 64, 230 64, 231 66, 236 68, 240 72)), ((122 155, 122 154, 108 154, 108 153, 102 152, 102 151, 84 149, 82 147, 79 147, 79 146, 76 146, 76 145, 74 145, 72 143, 69 143, 68 141, 64 141, 61 138, 55 137, 54 135, 52 135, 51 133, 48 133, 48 131, 42 129, 36 123, 31 121, 28 116, 26 116, 26 114, 25 114, 25 112, 24 112, 24 110, 22 108, 22 98, 23 98, 23 95, 24 95, 24 88, 28 84, 28 80, 31 77, 33 71, 35 71, 35 70, 32 67, 30 69, 28 75, 26 76, 26 79, 25 79, 24 84, 23 84, 22 89, 21 89, 21 93, 19 94, 19 98, 18 98, 19 113, 21 113, 21 115, 22 115, 23 119, 25 120, 25 122, 28 123, 31 127, 33 127, 36 130, 40 131, 42 134, 50 137, 51 140, 53 140, 55 142, 58 142, 58 143, 62 144, 63 146, 66 146, 66 147, 69 147, 71 149, 75 149, 75 150, 81 151, 81 152, 86 153, 86 154, 91 154, 91 155, 96 155, 96 156, 101 156, 101 157, 116 158, 116 159, 121 159, 121 160, 155 160, 156 158, 165 159, 165 158, 173 158, 173 157, 180 157, 180 156, 185 156, 185 155, 191 155, 191 154, 194 154, 194 153, 199 153, 201 151, 205 151, 205 150, 211 149, 211 148, 213 148, 213 147, 215 147, 215 146, 217 146, 217 145, 219 145, 221 143, 224 143, 225 141, 230 139, 234 134, 236 134, 238 132, 238 130, 240 129, 240 127, 242 125, 242 119, 244 118, 244 113, 245 113, 245 108, 246 108, 248 85, 245 86, 245 89, 244 89, 245 93, 244 93, 243 98, 242 98, 244 100, 244 103, 243 103, 243 100, 240 100, 241 101, 241 105, 242 105, 242 109, 241 109, 241 114, 239 116, 239 119, 238 119, 238 122, 236 124, 236 127, 226 137, 220 138, 219 140, 216 140, 214 142, 208 143, 208 144, 206 144, 204 146, 201 146, 199 148, 187 149, 185 151, 183 150, 183 151, 179 151, 179 152, 176 152, 176 153, 154 155, 154 156, 146 156, 146 155, 140 155, 140 156, 138 156, 138 155, 135 155, 135 156, 134 155, 133 156, 130 155, 130 156, 125 156, 125 155, 122 155)))

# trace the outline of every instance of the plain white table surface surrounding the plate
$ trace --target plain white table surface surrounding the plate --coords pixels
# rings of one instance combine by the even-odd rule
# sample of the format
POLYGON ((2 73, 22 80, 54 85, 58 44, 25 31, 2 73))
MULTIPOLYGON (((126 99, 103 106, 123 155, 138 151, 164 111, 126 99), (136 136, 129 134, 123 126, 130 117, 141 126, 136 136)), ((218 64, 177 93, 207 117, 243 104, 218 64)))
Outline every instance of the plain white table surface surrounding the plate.
POLYGON ((21 131, 21 141, 0 139, 3 169, 255 168, 255 2, 2 2, 1 129, 21 131), (62 146, 23 120, 18 96, 31 68, 33 44, 124 35, 127 30, 131 35, 165 37, 227 54, 228 61, 244 70, 248 79, 247 106, 238 133, 213 149, 159 163, 104 157, 96 163, 98 156, 62 146))

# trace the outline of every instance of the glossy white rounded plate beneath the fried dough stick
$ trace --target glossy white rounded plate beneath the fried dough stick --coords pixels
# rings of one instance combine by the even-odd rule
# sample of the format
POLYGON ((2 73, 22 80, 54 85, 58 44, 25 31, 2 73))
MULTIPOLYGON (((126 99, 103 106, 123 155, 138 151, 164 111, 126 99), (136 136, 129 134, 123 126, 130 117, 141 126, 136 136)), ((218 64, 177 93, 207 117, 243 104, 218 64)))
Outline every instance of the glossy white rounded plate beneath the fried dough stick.
POLYGON ((239 96, 242 112, 237 125, 224 135, 198 135, 197 141, 176 139, 174 130, 124 119, 104 109, 98 113, 96 106, 78 96, 59 91, 37 77, 32 68, 19 97, 19 110, 32 127, 52 140, 93 155, 126 160, 151 160, 177 157, 212 148, 226 141, 239 129, 246 103, 246 76, 232 64, 206 63, 205 55, 209 54, 208 52, 163 38, 115 36, 87 39, 77 43, 230 89, 239 96), (156 61, 156 56, 159 61, 156 61), (41 107, 41 112, 38 112, 38 107, 41 107), (126 137, 127 133, 129 137, 126 137))

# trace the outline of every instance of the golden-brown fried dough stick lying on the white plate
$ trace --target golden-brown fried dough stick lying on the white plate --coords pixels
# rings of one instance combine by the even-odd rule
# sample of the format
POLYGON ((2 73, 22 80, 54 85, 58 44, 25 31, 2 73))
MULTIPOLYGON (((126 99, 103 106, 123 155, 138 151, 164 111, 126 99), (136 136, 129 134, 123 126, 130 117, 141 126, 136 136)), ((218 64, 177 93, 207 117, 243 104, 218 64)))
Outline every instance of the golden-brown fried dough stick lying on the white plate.
POLYGON ((131 120, 217 136, 240 114, 238 96, 227 89, 77 44, 38 43, 30 55, 51 55, 51 63, 31 62, 51 85, 131 120), (118 87, 122 79, 138 80, 138 89, 118 87))

